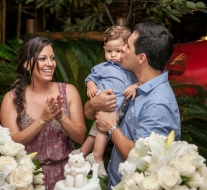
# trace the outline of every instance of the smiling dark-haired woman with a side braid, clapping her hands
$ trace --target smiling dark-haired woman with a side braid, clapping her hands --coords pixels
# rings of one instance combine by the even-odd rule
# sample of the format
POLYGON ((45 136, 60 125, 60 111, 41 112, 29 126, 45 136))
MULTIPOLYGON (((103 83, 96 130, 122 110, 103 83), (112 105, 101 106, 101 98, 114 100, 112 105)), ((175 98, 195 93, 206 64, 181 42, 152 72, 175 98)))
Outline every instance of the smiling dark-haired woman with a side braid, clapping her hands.
POLYGON ((87 131, 76 88, 52 82, 55 68, 50 41, 43 37, 25 41, 14 88, 5 94, 1 107, 2 126, 10 129, 12 139, 24 144, 28 152, 38 152, 47 190, 64 179, 73 142, 82 144, 87 131), (31 82, 26 85, 28 73, 31 82))

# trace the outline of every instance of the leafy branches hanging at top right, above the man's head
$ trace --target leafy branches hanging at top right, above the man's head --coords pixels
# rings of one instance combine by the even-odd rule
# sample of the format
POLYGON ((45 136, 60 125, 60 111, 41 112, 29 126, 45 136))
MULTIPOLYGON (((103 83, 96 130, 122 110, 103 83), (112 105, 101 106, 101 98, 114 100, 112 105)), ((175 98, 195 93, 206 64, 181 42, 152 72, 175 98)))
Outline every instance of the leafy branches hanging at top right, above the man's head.
POLYGON ((110 14, 108 5, 113 2, 127 3, 126 25, 129 24, 132 16, 140 9, 146 11, 148 17, 145 20, 159 23, 162 23, 165 17, 181 22, 180 17, 185 14, 193 14, 194 11, 207 13, 206 6, 202 1, 195 3, 195 1, 187 0, 100 0, 112 25, 115 25, 115 22, 110 14))

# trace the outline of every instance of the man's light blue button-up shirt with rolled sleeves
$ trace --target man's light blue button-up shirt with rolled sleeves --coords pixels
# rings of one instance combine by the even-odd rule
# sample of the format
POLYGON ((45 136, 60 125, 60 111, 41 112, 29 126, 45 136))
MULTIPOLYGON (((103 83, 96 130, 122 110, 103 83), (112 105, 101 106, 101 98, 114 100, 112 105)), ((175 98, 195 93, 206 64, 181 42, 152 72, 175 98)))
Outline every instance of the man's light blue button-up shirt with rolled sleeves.
MULTIPOLYGON (((139 137, 150 136, 153 131, 168 136, 174 130, 176 140, 180 138, 180 113, 168 82, 168 72, 163 72, 137 88, 136 98, 130 102, 120 128, 134 142, 139 137)), ((121 162, 124 160, 114 146, 108 165, 108 190, 121 180, 118 173, 121 162)))

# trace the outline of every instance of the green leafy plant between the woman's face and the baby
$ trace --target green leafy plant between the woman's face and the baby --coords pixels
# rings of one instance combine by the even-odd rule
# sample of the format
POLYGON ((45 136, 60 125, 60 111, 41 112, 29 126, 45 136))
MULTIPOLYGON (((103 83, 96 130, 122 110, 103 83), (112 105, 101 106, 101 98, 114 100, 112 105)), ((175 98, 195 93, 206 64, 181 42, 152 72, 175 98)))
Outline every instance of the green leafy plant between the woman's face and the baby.
MULTIPOLYGON (((84 105, 88 100, 85 78, 93 66, 105 60, 102 43, 84 39, 55 41, 54 47, 57 62, 54 79, 73 84, 78 89, 84 105)), ((86 119, 88 128, 92 123, 93 121, 86 119)))

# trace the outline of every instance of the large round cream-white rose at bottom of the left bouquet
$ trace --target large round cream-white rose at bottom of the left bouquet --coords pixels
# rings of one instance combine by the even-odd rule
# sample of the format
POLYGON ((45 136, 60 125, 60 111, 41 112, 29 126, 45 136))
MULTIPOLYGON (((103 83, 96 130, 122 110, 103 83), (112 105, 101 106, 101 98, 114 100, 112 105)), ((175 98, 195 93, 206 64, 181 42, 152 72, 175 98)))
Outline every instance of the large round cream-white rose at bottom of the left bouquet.
POLYGON ((17 188, 28 187, 33 182, 33 173, 20 165, 7 176, 7 180, 17 188))

